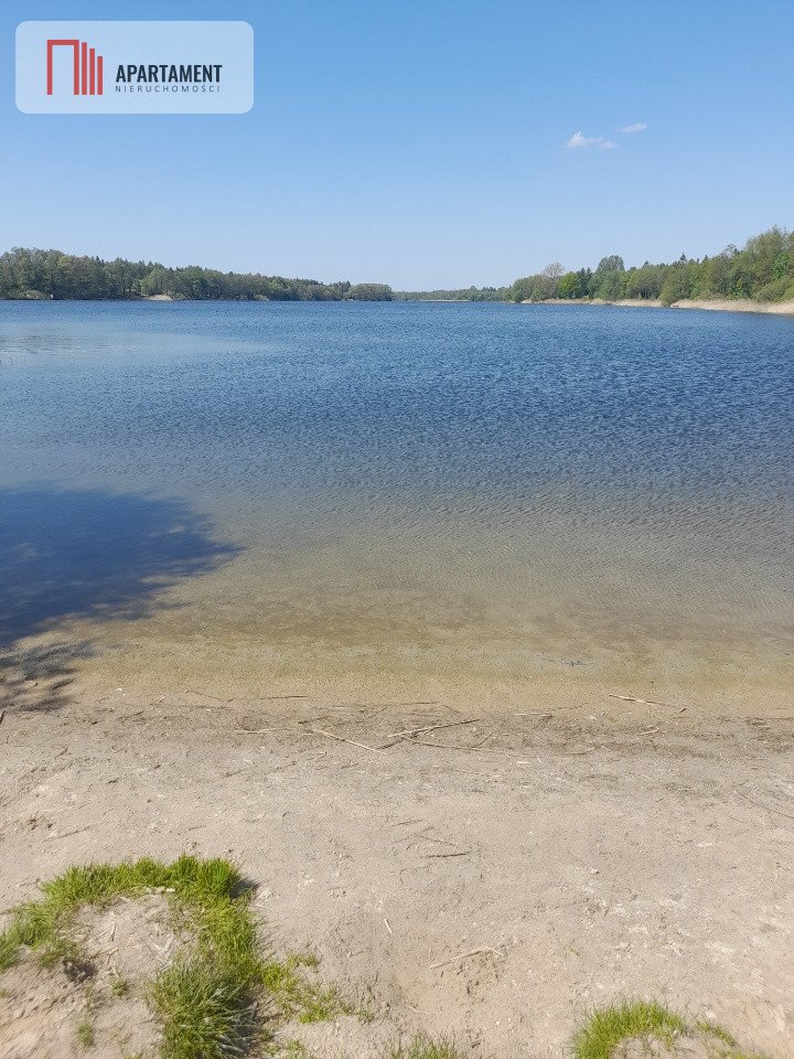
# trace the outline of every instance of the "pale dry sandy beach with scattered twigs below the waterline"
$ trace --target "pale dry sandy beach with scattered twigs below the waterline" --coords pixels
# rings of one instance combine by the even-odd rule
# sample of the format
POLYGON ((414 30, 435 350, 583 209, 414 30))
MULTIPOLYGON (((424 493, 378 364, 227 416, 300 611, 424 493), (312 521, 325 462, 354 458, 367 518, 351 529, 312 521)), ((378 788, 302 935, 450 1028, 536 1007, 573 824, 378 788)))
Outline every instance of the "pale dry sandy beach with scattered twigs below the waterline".
POLYGON ((0 727, 0 906, 74 863, 233 857, 268 944, 376 1015, 307 1027, 320 1059, 416 1030, 561 1057, 625 994, 794 1053, 794 710, 400 703, 37 682, 0 727))

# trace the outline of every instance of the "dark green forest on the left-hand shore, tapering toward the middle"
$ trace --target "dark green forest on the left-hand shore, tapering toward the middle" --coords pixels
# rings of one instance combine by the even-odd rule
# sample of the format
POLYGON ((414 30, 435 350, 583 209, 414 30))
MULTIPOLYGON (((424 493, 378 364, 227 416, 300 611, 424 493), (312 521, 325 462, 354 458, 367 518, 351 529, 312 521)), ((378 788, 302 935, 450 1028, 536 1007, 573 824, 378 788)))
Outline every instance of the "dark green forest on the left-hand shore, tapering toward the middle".
POLYGON ((175 300, 390 301, 386 284, 321 284, 259 272, 212 268, 165 268, 117 257, 77 257, 61 250, 15 247, 0 255, 0 298, 131 300, 165 296, 175 300))

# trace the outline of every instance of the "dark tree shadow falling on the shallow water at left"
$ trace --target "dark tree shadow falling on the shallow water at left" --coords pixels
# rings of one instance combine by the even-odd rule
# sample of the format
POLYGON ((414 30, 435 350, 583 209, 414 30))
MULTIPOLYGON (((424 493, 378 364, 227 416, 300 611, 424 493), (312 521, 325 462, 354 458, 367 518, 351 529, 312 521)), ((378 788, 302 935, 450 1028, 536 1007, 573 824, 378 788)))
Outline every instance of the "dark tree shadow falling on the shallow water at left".
POLYGON ((92 641, 24 641, 76 619, 146 618, 165 589, 239 553, 180 501, 103 490, 0 489, 0 706, 54 709, 92 641))

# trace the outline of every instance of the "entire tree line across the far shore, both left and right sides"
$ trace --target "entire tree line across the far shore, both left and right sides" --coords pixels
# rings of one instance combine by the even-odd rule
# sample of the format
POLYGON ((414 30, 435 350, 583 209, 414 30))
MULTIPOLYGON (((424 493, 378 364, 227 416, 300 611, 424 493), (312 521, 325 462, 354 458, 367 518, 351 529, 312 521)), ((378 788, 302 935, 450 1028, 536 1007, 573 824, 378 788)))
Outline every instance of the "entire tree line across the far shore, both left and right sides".
POLYGON ((773 227, 742 249, 728 246, 713 257, 682 254, 669 265, 626 268, 618 254, 597 268, 566 271, 557 261, 511 287, 464 290, 393 291, 385 284, 321 284, 210 268, 165 268, 151 261, 75 257, 60 250, 17 247, 0 256, 0 298, 137 299, 255 301, 620 301, 639 299, 673 304, 701 298, 750 298, 774 302, 794 299, 794 233, 773 227))

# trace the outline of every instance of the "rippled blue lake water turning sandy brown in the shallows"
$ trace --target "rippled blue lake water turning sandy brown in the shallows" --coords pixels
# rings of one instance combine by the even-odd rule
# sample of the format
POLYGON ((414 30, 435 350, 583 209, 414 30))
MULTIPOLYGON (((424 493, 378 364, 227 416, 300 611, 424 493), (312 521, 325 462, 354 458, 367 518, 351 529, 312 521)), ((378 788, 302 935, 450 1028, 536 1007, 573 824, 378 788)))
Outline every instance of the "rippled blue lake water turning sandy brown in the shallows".
POLYGON ((0 302, 7 651, 79 633, 114 680, 262 694, 783 694, 793 543, 792 319, 0 302))

